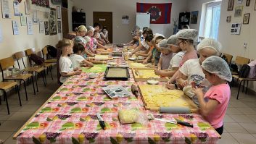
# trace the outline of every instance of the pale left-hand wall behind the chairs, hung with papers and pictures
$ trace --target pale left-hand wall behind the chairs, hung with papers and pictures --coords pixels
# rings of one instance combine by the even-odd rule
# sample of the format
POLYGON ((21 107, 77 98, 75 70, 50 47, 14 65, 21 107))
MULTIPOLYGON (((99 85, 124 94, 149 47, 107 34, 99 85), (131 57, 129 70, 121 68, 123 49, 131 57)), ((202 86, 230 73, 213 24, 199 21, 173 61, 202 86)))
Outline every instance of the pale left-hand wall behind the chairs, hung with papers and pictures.
MULTIPOLYGON (((56 6, 52 7, 56 9, 56 6)), ((28 35, 27 26, 20 26, 20 17, 14 16, 13 4, 9 2, 10 12, 12 14, 11 19, 3 19, 0 11, 0 24, 3 34, 3 41, 0 43, 0 59, 12 56, 17 51, 24 51, 28 48, 36 48, 36 51, 41 51, 41 48, 50 44, 55 46, 57 41, 62 38, 62 33, 57 35, 45 35, 39 33, 39 25, 33 25, 33 35, 28 35), (19 24, 20 35, 12 34, 12 20, 16 20, 19 24)), ((25 14, 24 1, 20 3, 20 12, 25 14)), ((32 17, 32 16, 30 16, 32 17)), ((38 12, 38 18, 44 19, 44 13, 38 12)))

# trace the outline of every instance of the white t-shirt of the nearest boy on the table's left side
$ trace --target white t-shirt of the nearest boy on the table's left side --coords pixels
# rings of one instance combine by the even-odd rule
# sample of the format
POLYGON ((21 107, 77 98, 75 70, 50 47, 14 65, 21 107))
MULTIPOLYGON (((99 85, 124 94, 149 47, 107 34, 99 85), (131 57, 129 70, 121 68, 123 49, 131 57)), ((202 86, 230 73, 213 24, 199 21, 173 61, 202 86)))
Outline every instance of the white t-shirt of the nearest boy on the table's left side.
MULTIPOLYGON (((72 62, 70 60, 70 57, 68 56, 60 56, 59 58, 59 73, 65 72, 73 72, 74 69, 72 67, 72 62)), ((67 80, 68 77, 60 77, 59 81, 60 82, 65 82, 67 80)))

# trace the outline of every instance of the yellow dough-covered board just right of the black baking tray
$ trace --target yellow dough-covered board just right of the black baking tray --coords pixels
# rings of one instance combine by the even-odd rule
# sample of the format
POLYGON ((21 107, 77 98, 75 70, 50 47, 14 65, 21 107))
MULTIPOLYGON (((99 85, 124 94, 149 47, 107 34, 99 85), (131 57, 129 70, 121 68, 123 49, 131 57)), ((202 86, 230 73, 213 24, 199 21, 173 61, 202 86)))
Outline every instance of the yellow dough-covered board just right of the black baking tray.
POLYGON ((154 74, 154 68, 133 68, 133 77, 136 82, 149 80, 150 77, 153 77, 155 80, 160 82, 167 82, 167 77, 160 77, 159 75, 154 74))

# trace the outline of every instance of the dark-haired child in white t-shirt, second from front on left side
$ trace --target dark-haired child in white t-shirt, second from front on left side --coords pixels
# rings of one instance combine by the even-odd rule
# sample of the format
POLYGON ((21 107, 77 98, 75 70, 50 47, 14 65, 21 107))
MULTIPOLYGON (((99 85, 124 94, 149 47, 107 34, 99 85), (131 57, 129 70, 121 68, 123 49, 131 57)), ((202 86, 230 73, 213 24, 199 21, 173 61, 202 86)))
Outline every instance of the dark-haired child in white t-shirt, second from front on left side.
POLYGON ((75 43, 75 46, 73 47, 74 54, 70 55, 70 59, 72 62, 72 67, 80 68, 80 67, 93 67, 94 64, 91 62, 86 61, 86 59, 83 58, 85 48, 80 43, 75 43))

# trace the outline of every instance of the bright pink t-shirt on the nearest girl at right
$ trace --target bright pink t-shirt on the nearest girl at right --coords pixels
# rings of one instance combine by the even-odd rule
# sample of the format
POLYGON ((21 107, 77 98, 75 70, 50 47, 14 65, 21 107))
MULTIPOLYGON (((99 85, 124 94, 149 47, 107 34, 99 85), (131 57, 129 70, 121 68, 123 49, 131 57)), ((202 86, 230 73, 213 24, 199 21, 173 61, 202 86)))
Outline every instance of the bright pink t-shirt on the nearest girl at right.
POLYGON ((205 117, 215 129, 223 125, 223 119, 228 108, 230 96, 231 91, 228 84, 213 85, 207 93, 205 93, 205 98, 218 101, 216 109, 205 117))

